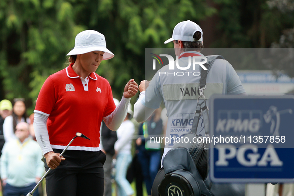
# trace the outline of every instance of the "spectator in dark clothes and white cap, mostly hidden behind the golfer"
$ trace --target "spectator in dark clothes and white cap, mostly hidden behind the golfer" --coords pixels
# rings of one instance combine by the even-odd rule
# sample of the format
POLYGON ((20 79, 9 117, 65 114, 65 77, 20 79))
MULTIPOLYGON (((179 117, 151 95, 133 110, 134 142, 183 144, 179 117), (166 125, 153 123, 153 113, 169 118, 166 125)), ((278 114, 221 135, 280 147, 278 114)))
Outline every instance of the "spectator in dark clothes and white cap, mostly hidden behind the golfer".
MULTIPOLYGON (((119 100, 113 98, 115 106, 119 104, 119 100)), ((102 151, 106 154, 104 163, 104 196, 112 196, 111 169, 112 159, 115 154, 114 144, 117 140, 116 131, 110 130, 104 121, 101 125, 101 144, 102 151)))

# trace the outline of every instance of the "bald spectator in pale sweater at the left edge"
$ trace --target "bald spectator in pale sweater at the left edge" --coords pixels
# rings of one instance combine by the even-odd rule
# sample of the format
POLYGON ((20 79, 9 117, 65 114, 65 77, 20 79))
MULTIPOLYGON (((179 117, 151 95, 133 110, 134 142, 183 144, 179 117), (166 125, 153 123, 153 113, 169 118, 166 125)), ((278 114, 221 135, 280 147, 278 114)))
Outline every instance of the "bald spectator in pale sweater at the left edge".
MULTIPOLYGON (((44 174, 42 152, 38 143, 29 137, 29 124, 18 123, 15 137, 5 143, 0 160, 4 196, 27 195, 44 174)), ((38 190, 34 196, 39 196, 38 190)))

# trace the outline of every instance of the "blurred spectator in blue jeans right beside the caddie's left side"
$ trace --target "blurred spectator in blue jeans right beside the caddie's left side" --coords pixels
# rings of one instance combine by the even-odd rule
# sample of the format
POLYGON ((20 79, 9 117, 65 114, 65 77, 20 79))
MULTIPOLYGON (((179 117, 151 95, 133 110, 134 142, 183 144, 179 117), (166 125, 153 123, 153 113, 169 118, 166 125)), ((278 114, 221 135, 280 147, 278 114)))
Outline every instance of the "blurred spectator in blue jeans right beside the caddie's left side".
POLYGON ((139 137, 136 140, 139 149, 138 158, 148 196, 151 195, 152 184, 160 168, 161 144, 150 140, 150 137, 156 138, 163 134, 163 123, 160 115, 161 109, 156 109, 147 121, 142 123, 139 135, 144 137, 139 137))

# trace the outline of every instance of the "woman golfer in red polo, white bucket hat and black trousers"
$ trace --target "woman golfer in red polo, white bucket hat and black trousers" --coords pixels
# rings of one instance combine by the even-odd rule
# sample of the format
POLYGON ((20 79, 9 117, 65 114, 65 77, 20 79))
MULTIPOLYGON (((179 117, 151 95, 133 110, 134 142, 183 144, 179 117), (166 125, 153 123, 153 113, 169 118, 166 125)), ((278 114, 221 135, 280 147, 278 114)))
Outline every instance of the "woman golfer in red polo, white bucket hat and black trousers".
POLYGON ((114 57, 104 35, 97 31, 79 33, 67 55, 71 64, 47 78, 34 111, 45 169, 52 169, 46 176, 47 196, 103 196, 106 155, 99 147, 101 121, 117 130, 138 85, 131 79, 115 106, 109 82, 95 73, 102 60, 114 57), (76 132, 90 141, 76 138, 59 157, 76 132))

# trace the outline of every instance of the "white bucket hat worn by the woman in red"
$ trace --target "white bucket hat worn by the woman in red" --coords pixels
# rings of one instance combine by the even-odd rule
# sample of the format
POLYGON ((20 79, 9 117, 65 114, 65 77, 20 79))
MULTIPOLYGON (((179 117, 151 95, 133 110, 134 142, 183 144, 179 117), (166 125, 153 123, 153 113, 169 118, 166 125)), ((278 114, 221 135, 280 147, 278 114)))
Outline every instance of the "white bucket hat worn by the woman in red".
POLYGON ((94 30, 86 30, 80 32, 75 39, 75 47, 69 55, 85 54, 92 51, 103 51, 103 60, 111 59, 114 54, 106 48, 105 36, 94 30))

